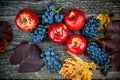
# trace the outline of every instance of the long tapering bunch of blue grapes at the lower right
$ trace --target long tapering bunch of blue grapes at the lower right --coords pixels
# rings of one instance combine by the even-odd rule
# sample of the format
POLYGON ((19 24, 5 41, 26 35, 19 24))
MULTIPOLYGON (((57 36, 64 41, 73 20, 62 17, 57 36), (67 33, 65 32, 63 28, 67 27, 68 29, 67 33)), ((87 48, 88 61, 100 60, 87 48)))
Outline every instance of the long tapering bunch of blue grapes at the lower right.
POLYGON ((96 42, 89 42, 86 51, 100 66, 103 75, 107 76, 108 72, 112 69, 112 63, 111 60, 108 59, 107 53, 102 50, 96 42))

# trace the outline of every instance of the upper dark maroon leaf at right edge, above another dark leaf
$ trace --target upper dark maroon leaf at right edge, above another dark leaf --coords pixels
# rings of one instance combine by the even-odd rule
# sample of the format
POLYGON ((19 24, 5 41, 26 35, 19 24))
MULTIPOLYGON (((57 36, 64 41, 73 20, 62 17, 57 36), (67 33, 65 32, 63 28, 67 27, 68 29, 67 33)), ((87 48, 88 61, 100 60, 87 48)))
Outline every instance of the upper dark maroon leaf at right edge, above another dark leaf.
POLYGON ((109 52, 120 52, 120 20, 113 20, 106 33, 108 35, 100 39, 102 47, 109 52))

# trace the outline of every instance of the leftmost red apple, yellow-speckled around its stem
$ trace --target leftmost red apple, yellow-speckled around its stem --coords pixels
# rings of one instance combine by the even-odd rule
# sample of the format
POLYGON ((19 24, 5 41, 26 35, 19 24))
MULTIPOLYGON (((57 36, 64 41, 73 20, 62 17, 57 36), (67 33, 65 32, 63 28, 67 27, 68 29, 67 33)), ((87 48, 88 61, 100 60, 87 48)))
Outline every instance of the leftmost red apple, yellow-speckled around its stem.
POLYGON ((18 12, 15 18, 16 26, 23 32, 31 32, 38 25, 39 19, 36 13, 30 9, 23 9, 18 12))

